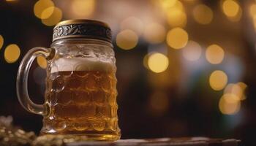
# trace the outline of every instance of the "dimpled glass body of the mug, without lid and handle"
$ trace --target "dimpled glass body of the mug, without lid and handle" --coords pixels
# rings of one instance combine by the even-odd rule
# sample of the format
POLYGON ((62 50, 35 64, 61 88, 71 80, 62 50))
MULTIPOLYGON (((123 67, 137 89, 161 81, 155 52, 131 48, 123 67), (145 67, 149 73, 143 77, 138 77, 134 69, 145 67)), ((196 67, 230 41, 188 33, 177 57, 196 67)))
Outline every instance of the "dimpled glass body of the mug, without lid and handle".
POLYGON ((54 42, 48 62, 42 134, 93 140, 120 138, 116 103, 116 59, 110 43, 96 39, 54 42))

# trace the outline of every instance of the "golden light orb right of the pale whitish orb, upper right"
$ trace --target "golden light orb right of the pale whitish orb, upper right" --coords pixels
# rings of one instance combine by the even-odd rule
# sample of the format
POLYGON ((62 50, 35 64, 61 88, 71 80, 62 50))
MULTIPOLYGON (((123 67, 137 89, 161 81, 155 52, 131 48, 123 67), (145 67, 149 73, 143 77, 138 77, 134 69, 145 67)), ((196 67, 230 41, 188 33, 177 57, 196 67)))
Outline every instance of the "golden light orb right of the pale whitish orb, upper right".
POLYGON ((206 49, 206 60, 211 64, 220 64, 225 56, 225 52, 219 45, 210 45, 206 49))

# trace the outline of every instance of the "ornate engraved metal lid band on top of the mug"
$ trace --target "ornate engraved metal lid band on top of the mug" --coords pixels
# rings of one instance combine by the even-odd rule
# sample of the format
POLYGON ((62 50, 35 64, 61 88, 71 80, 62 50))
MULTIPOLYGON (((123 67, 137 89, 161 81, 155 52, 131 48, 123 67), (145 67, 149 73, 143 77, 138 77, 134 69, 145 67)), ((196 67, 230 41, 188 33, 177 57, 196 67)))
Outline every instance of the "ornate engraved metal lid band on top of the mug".
POLYGON ((58 39, 86 38, 111 42, 108 24, 97 20, 64 20, 53 28, 53 42, 58 39))

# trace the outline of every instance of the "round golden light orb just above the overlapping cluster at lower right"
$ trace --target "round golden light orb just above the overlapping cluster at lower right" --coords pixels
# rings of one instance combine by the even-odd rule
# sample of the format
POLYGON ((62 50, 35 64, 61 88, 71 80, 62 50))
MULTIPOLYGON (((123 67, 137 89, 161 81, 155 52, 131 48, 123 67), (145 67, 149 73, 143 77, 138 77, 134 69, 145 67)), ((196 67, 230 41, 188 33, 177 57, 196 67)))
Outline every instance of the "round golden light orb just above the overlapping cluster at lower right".
POLYGON ((227 85, 227 74, 221 70, 216 70, 211 73, 209 83, 214 91, 221 91, 227 85))

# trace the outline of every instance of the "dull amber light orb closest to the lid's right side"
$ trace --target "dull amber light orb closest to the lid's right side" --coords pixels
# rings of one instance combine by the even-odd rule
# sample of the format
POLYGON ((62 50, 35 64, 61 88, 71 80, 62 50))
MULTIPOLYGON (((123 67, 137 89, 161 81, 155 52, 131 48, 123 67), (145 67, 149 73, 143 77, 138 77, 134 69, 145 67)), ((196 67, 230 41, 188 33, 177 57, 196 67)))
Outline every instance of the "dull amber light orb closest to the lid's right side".
POLYGON ((116 45, 124 50, 130 50, 138 44, 138 35, 134 31, 126 29, 116 36, 116 45))

